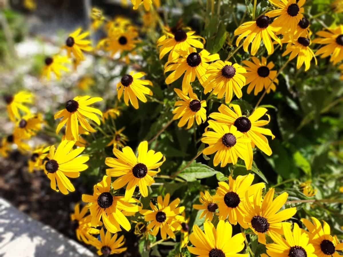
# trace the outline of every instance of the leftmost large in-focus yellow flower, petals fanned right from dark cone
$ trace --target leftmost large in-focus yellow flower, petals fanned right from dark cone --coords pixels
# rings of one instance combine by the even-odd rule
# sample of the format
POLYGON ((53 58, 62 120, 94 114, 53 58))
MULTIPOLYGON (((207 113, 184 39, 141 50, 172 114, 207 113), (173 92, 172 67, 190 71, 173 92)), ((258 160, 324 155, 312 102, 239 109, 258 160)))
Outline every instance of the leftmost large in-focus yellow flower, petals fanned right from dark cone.
POLYGON ((89 157, 79 156, 84 147, 73 150, 74 145, 75 141, 64 140, 58 145, 56 151, 54 145, 50 146, 49 160, 44 165, 44 171, 50 180, 51 188, 56 192, 61 191, 64 195, 67 195, 68 191, 75 191, 68 178, 78 178, 80 172, 88 168, 84 163, 89 160, 89 157))

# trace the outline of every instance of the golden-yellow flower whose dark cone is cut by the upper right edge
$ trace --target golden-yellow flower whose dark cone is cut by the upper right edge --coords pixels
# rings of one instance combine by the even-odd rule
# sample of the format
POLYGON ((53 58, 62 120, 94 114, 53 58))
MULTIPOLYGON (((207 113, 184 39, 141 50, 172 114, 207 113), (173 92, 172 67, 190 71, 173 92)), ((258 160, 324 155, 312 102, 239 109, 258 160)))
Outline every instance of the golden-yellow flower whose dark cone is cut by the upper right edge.
POLYGON ((343 25, 334 28, 328 28, 327 31, 319 31, 316 33, 321 38, 313 40, 314 43, 326 45, 319 48, 316 55, 321 58, 326 58, 331 54, 330 61, 333 64, 343 60, 343 25))

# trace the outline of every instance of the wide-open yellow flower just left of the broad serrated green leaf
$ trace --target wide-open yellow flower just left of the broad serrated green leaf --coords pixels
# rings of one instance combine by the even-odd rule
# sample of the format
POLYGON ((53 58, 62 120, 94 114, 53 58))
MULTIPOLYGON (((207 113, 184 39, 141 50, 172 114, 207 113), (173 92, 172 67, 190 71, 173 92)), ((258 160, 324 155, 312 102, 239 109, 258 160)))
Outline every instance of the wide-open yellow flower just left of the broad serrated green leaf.
POLYGON ((124 147, 122 151, 113 148, 113 154, 117 158, 105 159, 105 164, 111 167, 106 169, 106 174, 120 177, 112 183, 113 188, 119 189, 127 184, 125 199, 132 197, 136 186, 143 197, 148 196, 147 187, 155 182, 152 176, 160 171, 159 167, 166 160, 162 153, 148 151, 148 143, 143 141, 138 146, 138 157, 129 146, 124 147))

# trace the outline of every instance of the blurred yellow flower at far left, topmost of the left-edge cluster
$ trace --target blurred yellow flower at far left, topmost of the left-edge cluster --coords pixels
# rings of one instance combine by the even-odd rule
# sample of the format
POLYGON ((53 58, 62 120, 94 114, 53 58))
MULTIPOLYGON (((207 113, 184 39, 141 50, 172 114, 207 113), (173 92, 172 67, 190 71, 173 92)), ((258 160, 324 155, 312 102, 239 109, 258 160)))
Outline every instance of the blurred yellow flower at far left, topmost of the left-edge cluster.
POLYGON ((32 103, 32 93, 26 91, 19 91, 14 96, 4 95, 3 99, 6 103, 8 117, 11 121, 19 120, 23 114, 30 113, 30 109, 24 104, 32 103))

